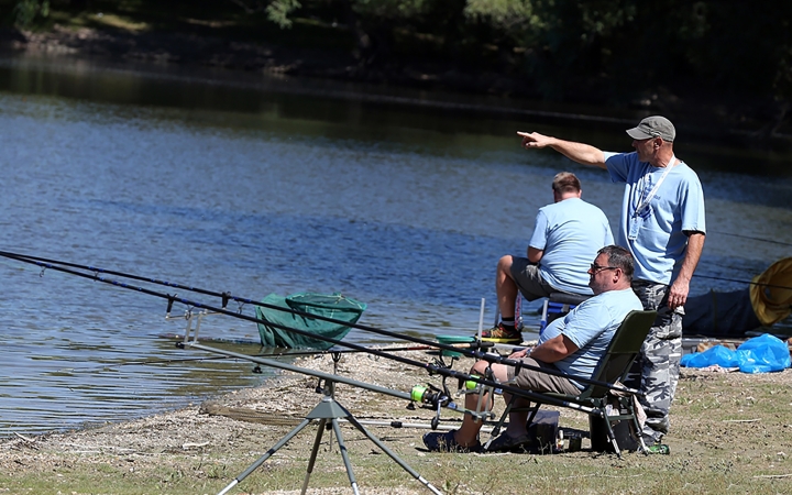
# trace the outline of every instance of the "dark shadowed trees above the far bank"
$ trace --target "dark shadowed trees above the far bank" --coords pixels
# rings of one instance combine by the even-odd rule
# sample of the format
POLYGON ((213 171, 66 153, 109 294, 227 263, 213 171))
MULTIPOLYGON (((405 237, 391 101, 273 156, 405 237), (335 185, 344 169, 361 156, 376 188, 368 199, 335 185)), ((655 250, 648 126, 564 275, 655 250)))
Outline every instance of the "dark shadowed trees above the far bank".
POLYGON ((6 0, 0 6, 7 25, 18 29, 43 30, 68 19, 91 26, 96 20, 88 13, 97 11, 152 30, 186 28, 185 20, 198 19, 215 26, 204 31, 208 35, 267 43, 301 38, 304 47, 343 51, 359 74, 386 79, 428 74, 437 77, 424 77, 425 84, 448 85, 454 77, 474 77, 477 90, 550 101, 721 106, 733 124, 762 122, 767 135, 784 132, 792 100, 792 2, 6 0))

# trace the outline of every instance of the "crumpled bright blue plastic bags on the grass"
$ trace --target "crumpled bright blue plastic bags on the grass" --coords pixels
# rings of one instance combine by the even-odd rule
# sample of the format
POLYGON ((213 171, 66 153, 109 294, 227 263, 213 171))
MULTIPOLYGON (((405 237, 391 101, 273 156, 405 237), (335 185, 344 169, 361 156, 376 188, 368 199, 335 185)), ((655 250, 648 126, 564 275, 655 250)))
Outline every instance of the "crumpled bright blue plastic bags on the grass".
POLYGON ((790 367, 790 351, 787 343, 765 333, 745 341, 736 351, 715 345, 704 352, 682 356, 680 365, 706 367, 717 364, 722 367, 739 367, 743 373, 771 373, 790 367))

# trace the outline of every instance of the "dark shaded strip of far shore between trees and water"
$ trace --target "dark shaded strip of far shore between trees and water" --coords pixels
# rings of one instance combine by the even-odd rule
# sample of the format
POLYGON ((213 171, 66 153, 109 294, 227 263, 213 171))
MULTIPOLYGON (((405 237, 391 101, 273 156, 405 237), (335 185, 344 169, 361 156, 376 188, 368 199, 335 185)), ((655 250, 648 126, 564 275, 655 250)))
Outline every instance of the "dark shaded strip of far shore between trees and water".
MULTIPOLYGON (((792 134, 777 129, 772 116, 746 118, 748 98, 721 101, 717 108, 696 98, 669 95, 654 101, 640 100, 613 106, 606 102, 553 103, 532 100, 521 95, 519 78, 501 74, 461 74, 442 67, 383 69, 363 67, 350 55, 321 50, 294 50, 250 43, 226 43, 222 40, 191 37, 186 42, 178 33, 125 33, 82 28, 70 30, 55 25, 50 32, 32 33, 0 30, 0 50, 16 54, 64 59, 105 61, 136 66, 202 67, 228 70, 230 75, 270 74, 275 77, 298 77, 307 80, 359 84, 371 88, 370 95, 352 98, 391 105, 430 105, 435 108, 518 118, 549 124, 597 125, 622 129, 626 123, 656 113, 675 122, 691 140, 723 142, 754 150, 789 151, 792 134), (435 97, 394 96, 394 89, 430 91, 435 97), (381 96, 376 92, 382 90, 381 96), (484 102, 473 102, 473 99, 484 102), (495 102, 497 101, 497 102, 495 102), (724 113, 724 108, 740 108, 740 117, 724 113), (769 120, 768 120, 769 119, 769 120)), ((338 91, 339 94, 345 91, 338 91)), ((361 91, 362 92, 362 91, 361 91)), ((345 96, 349 98, 349 92, 345 96)), ((758 103, 757 103, 758 105, 758 103)))

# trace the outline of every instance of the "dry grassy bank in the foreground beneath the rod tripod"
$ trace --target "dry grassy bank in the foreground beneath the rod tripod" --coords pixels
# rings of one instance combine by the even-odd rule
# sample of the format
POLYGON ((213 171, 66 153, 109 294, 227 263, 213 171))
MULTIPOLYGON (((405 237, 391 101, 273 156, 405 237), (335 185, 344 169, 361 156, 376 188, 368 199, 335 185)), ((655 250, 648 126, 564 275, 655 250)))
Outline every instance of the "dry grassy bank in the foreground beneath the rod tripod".
MULTIPOLYGON (((302 365, 332 369, 329 358, 302 365)), ((349 354, 340 373, 398 391, 428 380, 419 370, 349 354)), ((790 493, 790 370, 760 375, 684 370, 673 430, 666 439, 670 455, 627 453, 618 459, 591 451, 585 439, 582 451, 553 455, 438 454, 425 451, 425 429, 367 428, 446 493, 790 493)), ((213 403, 233 408, 230 416, 207 414, 217 409, 205 404, 98 429, 6 439, 0 443, 0 490, 217 493, 319 403, 316 385, 315 378, 284 375, 213 403)), ((409 411, 400 400, 344 385, 337 397, 364 420, 427 424, 432 417, 430 410, 409 411)), ((584 415, 560 410, 562 428, 587 429, 584 415)), ((459 415, 443 414, 443 424, 457 420, 459 415)), ((299 493, 316 431, 314 426, 305 429, 232 493, 299 493)), ((429 493, 349 425, 342 431, 362 493, 429 493)), ((316 493, 351 493, 337 443, 327 432, 309 486, 316 493)))

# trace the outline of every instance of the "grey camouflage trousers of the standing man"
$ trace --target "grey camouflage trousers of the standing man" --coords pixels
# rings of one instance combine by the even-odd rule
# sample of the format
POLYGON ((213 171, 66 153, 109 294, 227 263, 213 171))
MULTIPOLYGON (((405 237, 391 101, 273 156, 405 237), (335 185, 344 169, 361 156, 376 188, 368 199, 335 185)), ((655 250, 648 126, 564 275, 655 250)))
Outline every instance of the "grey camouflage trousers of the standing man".
POLYGON ((684 309, 672 311, 668 307, 668 285, 632 280, 632 290, 645 309, 658 312, 626 384, 646 394, 640 398, 647 414, 644 440, 653 443, 668 433, 670 428, 669 410, 679 383, 682 356, 684 309))

